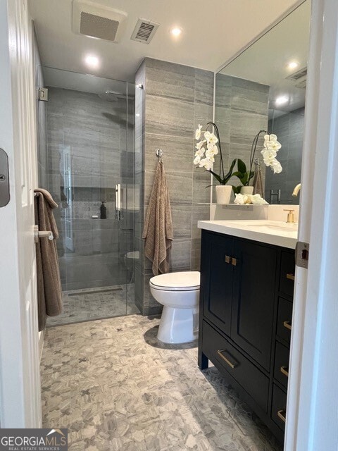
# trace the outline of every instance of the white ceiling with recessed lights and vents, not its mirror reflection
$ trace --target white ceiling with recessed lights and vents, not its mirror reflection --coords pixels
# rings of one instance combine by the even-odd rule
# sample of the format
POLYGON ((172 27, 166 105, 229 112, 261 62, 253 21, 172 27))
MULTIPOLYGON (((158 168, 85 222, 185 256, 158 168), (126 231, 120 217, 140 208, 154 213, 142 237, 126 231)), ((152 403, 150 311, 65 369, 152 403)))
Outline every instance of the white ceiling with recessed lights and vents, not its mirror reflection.
POLYGON ((72 31, 71 0, 29 0, 29 7, 44 66, 132 82, 145 56, 215 71, 298 2, 92 0, 127 13, 118 44, 76 35, 72 31), (130 40, 139 18, 160 23, 150 44, 130 40), (182 35, 176 39, 169 32, 174 26, 182 28, 182 35), (99 58, 98 68, 85 65, 87 54, 99 58))

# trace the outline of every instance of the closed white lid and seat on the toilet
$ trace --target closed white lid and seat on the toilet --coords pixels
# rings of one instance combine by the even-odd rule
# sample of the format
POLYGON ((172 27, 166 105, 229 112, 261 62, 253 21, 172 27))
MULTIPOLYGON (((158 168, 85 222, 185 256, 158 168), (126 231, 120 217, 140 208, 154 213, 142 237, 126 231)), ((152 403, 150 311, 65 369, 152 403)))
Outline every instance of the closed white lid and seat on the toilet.
POLYGON ((150 285, 157 290, 188 291, 199 290, 201 274, 199 271, 160 274, 150 279, 150 285))

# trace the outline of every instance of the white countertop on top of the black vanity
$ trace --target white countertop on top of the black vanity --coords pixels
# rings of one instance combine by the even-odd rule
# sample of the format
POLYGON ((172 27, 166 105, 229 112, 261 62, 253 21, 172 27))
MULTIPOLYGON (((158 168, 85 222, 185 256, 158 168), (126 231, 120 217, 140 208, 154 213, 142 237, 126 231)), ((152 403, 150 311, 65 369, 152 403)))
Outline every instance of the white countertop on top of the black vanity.
POLYGON ((198 227, 212 232, 224 233, 234 237, 246 238, 268 245, 289 247, 295 249, 298 224, 282 221, 251 220, 251 221, 199 221, 198 227))

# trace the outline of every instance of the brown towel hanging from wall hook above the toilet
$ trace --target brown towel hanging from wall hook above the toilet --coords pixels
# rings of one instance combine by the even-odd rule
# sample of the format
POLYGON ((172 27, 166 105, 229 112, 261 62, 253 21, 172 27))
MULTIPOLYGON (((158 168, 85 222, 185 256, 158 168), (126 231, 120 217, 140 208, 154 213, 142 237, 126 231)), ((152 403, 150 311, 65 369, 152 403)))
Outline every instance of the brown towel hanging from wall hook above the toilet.
POLYGON ((173 221, 162 161, 159 161, 157 165, 142 238, 146 239, 144 252, 146 257, 153 262, 154 276, 159 273, 168 273, 173 241, 173 221))

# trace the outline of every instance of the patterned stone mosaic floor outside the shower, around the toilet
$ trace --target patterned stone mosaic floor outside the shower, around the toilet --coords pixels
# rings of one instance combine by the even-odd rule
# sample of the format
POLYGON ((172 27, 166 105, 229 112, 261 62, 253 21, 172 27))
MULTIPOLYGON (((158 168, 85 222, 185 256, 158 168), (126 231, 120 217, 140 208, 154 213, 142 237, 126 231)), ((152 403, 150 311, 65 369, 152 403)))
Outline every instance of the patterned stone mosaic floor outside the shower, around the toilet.
POLYGON ((139 315, 46 330, 44 427, 68 428, 70 451, 281 451, 196 343, 158 342, 139 315))

